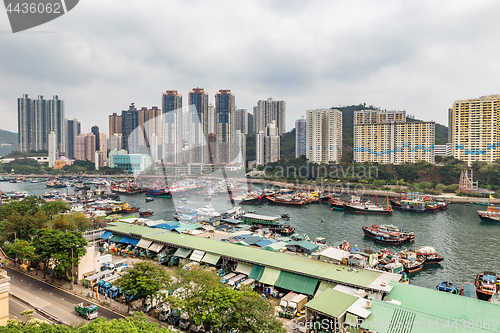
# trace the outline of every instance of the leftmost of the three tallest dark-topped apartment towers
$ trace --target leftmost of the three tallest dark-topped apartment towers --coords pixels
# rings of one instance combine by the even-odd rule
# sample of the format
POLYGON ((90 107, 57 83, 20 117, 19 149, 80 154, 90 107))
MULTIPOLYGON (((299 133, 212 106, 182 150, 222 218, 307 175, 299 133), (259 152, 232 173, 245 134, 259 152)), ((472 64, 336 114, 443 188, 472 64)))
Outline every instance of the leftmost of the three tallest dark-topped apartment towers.
POLYGON ((167 90, 162 94, 163 111, 163 163, 182 163, 183 119, 182 95, 175 90, 167 90))

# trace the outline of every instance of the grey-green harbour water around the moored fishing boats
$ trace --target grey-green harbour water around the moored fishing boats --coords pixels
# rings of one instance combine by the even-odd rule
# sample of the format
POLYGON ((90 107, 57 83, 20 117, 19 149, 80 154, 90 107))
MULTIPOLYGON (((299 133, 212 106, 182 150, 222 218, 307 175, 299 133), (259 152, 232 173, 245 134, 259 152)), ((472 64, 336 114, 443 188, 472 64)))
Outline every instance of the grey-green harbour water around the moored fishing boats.
MULTIPOLYGON (((4 192, 25 190, 30 195, 41 195, 49 189, 43 183, 0 183, 4 192)), ((73 193, 73 188, 59 189, 73 193)), ((199 208, 211 204, 222 212, 231 208, 226 195, 205 201, 203 196, 185 196, 187 202, 181 202, 182 195, 174 198, 155 198, 145 202, 145 194, 122 195, 121 199, 132 206, 154 211, 153 220, 173 220, 173 214, 179 206, 199 208)), ((410 283, 435 288, 441 281, 450 281, 460 288, 463 282, 474 282, 476 275, 484 270, 500 273, 500 224, 481 221, 478 210, 485 206, 465 206, 451 204, 447 211, 437 213, 411 213, 394 211, 392 216, 350 214, 343 211, 331 211, 328 204, 311 204, 302 208, 271 205, 247 205, 246 211, 258 214, 280 216, 289 214, 288 224, 296 232, 307 234, 311 239, 325 237, 327 244, 347 240, 360 250, 388 248, 400 251, 416 246, 434 246, 444 260, 433 266, 426 266, 422 271, 410 275, 410 283), (362 226, 372 224, 393 224, 416 234, 414 244, 391 246, 375 243, 363 236, 362 226)), ((135 214, 138 215, 138 214, 135 214)))

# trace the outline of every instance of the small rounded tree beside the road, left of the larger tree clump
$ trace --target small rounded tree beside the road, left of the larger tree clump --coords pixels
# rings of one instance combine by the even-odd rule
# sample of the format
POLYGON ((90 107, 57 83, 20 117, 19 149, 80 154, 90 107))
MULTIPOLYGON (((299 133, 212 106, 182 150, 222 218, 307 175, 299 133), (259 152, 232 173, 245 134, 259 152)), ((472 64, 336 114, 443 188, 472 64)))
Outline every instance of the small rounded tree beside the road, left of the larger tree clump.
POLYGON ((171 289, 171 284, 172 278, 165 268, 150 261, 136 263, 116 281, 122 290, 132 291, 135 298, 142 301, 143 307, 147 297, 156 296, 160 290, 171 289))

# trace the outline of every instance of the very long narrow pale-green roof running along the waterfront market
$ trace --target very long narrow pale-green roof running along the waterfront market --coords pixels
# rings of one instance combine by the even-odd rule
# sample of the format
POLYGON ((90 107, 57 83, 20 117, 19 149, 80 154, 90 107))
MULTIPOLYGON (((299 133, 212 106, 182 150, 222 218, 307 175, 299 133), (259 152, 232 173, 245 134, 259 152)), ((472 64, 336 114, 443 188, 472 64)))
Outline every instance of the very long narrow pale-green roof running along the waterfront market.
MULTIPOLYGON (((122 222, 115 222, 116 226, 106 227, 109 231, 119 231, 126 233, 127 230, 138 234, 151 233, 148 227, 128 225, 122 222)), ((318 260, 307 259, 302 256, 293 256, 284 253, 262 251, 258 248, 238 246, 228 242, 206 239, 175 232, 165 232, 156 235, 148 235, 149 240, 171 244, 175 247, 185 247, 202 250, 221 256, 232 258, 239 261, 246 261, 262 266, 270 266, 280 270, 291 271, 294 273, 310 275, 321 280, 330 280, 336 283, 353 285, 356 287, 368 288, 382 272, 359 269, 353 271, 350 267, 343 265, 332 265, 318 260)), ((277 243, 275 243, 277 244, 277 243)), ((377 289, 376 287, 373 287, 377 289)))

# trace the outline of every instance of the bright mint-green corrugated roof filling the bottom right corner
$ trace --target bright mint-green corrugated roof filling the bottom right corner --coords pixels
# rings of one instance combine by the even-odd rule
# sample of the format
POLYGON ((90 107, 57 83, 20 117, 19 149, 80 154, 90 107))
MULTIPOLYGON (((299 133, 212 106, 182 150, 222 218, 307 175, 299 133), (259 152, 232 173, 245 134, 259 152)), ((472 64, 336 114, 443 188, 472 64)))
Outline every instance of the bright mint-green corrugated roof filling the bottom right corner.
POLYGON ((453 320, 488 318, 500 322, 500 307, 496 304, 399 282, 391 285, 393 289, 385 300, 399 301, 405 308, 453 320))

